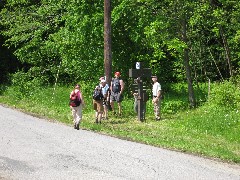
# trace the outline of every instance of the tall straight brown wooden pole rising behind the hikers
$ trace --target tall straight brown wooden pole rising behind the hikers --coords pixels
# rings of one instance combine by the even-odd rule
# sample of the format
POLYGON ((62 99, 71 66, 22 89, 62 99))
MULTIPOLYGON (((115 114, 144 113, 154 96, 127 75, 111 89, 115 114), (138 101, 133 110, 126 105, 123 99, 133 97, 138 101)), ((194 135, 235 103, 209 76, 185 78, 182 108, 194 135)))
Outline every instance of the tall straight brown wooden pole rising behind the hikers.
POLYGON ((111 4, 104 0, 104 72, 108 84, 112 72, 112 40, 111 40, 111 4))

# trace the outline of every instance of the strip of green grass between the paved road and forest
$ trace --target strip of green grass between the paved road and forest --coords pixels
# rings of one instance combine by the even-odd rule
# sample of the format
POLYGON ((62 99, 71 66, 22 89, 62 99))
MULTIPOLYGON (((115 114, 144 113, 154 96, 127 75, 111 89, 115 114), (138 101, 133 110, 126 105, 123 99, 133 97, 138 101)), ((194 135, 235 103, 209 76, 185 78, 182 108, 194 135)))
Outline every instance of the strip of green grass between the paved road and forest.
MULTIPOLYGON (((146 121, 139 122, 133 112, 133 98, 125 98, 122 103, 123 116, 116 117, 110 111, 109 119, 103 120, 99 125, 94 123, 91 92, 86 89, 82 90, 86 102, 82 129, 156 147, 240 163, 240 112, 237 109, 205 103, 189 110, 185 95, 181 93, 171 95, 176 92, 168 92, 162 103, 161 121, 155 121, 149 101, 146 121)), ((68 106, 71 88, 58 86, 54 90, 52 87, 42 87, 35 89, 34 93, 28 96, 17 99, 12 96, 14 91, 13 87, 8 87, 0 96, 0 103, 72 126, 68 106)))

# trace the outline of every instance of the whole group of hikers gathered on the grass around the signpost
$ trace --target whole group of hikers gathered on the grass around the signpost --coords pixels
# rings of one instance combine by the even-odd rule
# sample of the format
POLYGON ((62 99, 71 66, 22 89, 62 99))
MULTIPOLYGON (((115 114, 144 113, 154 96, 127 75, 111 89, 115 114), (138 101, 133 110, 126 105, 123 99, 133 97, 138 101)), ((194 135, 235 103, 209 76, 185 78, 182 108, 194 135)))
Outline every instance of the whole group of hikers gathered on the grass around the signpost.
MULTIPOLYGON (((95 123, 101 123, 103 119, 108 119, 108 110, 111 110, 114 115, 122 115, 122 101, 124 92, 124 82, 120 78, 120 72, 115 72, 114 78, 112 78, 110 86, 107 84, 104 77, 99 78, 99 84, 93 90, 93 109, 95 111, 95 123), (115 107, 117 103, 117 108, 115 107), (116 110, 117 109, 117 110, 116 110)), ((161 85, 157 82, 157 77, 152 76, 153 88, 152 88, 152 103, 156 120, 160 120, 161 110, 161 85)), ((135 105, 137 94, 134 94, 135 105)), ((85 106, 83 95, 80 89, 80 85, 76 84, 74 90, 70 93, 69 102, 74 129, 79 130, 79 124, 82 120, 82 108, 85 106)), ((134 106, 136 112, 136 106, 134 106)))

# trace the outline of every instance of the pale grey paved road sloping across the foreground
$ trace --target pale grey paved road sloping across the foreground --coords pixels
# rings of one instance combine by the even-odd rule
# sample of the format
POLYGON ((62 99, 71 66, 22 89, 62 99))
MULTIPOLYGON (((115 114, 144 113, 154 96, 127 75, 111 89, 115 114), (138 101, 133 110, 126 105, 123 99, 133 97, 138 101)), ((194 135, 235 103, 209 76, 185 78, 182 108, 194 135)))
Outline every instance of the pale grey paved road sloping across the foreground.
POLYGON ((0 180, 240 180, 240 166, 124 141, 0 106, 0 180))

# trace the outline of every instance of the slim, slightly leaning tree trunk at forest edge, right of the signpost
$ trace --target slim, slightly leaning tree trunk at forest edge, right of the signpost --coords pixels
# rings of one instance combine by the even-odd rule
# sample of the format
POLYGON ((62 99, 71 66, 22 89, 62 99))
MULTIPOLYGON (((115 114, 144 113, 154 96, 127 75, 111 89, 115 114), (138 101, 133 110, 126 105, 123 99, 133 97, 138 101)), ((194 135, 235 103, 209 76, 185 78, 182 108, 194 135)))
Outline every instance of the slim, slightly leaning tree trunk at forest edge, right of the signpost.
MULTIPOLYGON (((183 20, 182 23, 182 40, 187 44, 187 23, 186 20, 183 20)), ((193 90, 193 85, 192 85, 192 76, 191 76, 191 67, 189 64, 189 49, 188 47, 184 49, 184 66, 186 70, 186 78, 187 78, 187 83, 188 83, 188 99, 190 103, 190 107, 194 108, 196 107, 196 100, 194 96, 194 90, 193 90)))

